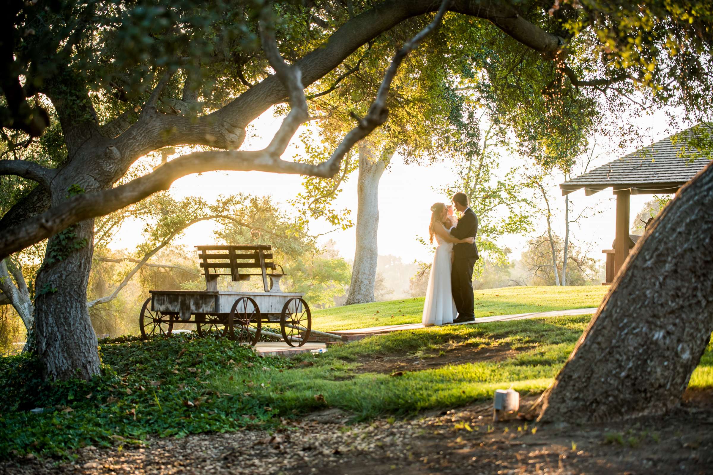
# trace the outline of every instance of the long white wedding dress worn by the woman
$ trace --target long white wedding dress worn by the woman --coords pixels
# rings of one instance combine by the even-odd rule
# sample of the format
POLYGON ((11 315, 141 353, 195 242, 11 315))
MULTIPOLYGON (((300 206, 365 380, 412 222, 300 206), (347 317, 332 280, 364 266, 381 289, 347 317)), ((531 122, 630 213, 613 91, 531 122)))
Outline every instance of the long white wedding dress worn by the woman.
POLYGON ((451 292, 451 255, 453 255, 453 242, 446 242, 436 235, 438 247, 431 265, 429 288, 426 290, 424 314, 421 322, 424 325, 449 324, 458 316, 456 302, 453 301, 451 292))

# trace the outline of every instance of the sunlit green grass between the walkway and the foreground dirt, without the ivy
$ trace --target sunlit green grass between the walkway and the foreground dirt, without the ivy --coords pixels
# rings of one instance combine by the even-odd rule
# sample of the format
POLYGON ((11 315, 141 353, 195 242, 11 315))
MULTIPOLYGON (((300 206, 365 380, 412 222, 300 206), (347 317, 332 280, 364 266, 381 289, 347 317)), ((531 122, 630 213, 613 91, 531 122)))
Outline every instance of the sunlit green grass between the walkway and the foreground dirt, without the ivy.
MULTIPOLYGON (((294 360, 314 365, 256 369, 230 380, 221 375, 213 380, 213 388, 237 397, 258 397, 284 415, 339 407, 352 412, 355 420, 491 400, 496 389, 513 388, 523 396, 539 394, 552 383, 590 319, 589 315, 565 316, 399 331, 330 349, 316 358, 306 355, 294 360), (369 358, 406 352, 435 359, 460 345, 474 349, 507 345, 520 351, 505 361, 444 365, 399 376, 359 370, 359 362, 369 358)), ((690 387, 713 387, 713 343, 694 371, 690 387)))

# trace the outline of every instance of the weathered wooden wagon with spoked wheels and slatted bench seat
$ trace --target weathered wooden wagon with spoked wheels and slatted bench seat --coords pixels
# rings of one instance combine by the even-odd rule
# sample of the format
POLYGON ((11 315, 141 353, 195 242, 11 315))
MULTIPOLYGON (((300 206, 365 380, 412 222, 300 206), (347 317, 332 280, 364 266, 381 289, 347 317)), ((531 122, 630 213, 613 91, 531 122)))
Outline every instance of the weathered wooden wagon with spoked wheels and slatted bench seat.
POLYGON ((195 324, 200 336, 207 331, 218 331, 231 340, 255 345, 260 340, 262 324, 272 323, 279 324, 282 338, 289 346, 304 345, 312 331, 312 314, 303 294, 282 292, 279 288, 284 272, 272 262, 272 246, 196 248, 205 275, 205 290, 150 290, 151 297, 144 302, 139 317, 143 338, 157 334, 168 336, 173 325, 180 323, 195 324), (238 282, 253 275, 262 277, 265 292, 218 290, 220 276, 229 276, 238 282))

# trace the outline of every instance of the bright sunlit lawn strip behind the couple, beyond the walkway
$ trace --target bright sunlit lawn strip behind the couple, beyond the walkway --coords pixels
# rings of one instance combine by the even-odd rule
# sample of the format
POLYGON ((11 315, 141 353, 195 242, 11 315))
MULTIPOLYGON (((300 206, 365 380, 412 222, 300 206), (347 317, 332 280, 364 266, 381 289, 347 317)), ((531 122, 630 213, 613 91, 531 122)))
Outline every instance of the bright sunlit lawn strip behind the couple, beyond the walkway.
MULTIPOLYGON (((533 311, 585 309, 599 306, 609 287, 503 287, 475 292, 476 318, 525 314, 533 311)), ((416 324, 421 321, 424 298, 338 306, 317 310, 312 328, 321 331, 351 330, 368 326, 416 324)))

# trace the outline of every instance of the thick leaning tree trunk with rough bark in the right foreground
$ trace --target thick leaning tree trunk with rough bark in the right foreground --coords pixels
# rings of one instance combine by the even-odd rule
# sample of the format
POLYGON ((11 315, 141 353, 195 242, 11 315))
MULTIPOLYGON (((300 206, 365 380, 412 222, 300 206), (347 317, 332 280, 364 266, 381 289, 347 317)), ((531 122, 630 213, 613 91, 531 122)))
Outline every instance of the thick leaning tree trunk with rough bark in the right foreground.
POLYGON ((713 166, 684 186, 640 238, 542 398, 540 420, 667 412, 713 331, 713 166))

